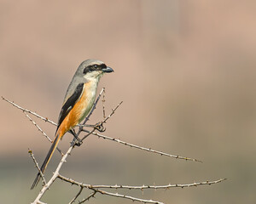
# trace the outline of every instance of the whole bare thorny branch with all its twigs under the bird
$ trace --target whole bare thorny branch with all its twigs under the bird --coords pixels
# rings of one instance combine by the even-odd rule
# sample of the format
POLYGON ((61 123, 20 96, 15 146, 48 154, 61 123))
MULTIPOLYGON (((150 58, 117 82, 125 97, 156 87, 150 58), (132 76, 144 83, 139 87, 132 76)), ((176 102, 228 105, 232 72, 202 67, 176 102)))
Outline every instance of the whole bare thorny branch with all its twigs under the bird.
MULTIPOLYGON (((127 142, 122 141, 120 139, 114 139, 114 138, 102 135, 101 133, 96 133, 96 130, 98 130, 100 132, 103 132, 105 130, 105 127, 103 127, 103 124, 106 123, 111 116, 113 116, 114 112, 122 104, 122 102, 120 102, 119 105, 117 105, 112 110, 112 112, 106 117, 106 115, 105 115, 105 106, 104 106, 104 102, 105 102, 105 95, 104 94, 105 94, 105 88, 102 88, 102 91, 99 94, 99 96, 97 97, 96 102, 93 105, 89 115, 85 118, 85 120, 82 124, 78 125, 78 127, 79 127, 79 131, 77 133, 78 136, 82 132, 87 133, 87 134, 84 135, 84 138, 82 138, 81 140, 84 140, 90 134, 93 134, 93 135, 96 135, 98 138, 108 139, 108 140, 117 142, 119 144, 124 144, 124 145, 130 146, 130 147, 133 147, 133 148, 136 148, 136 149, 139 149, 139 150, 145 150, 145 151, 148 151, 148 152, 159 154, 161 156, 170 156, 170 157, 173 157, 173 158, 189 160, 189 161, 199 161, 199 160, 189 158, 189 157, 170 155, 170 154, 167 154, 167 153, 162 152, 162 151, 152 150, 151 148, 145 148, 145 147, 142 147, 142 146, 139 146, 139 145, 136 145, 136 144, 130 144, 130 143, 127 143, 127 142), (90 116, 93 113, 93 111, 95 111, 96 105, 97 105, 99 99, 101 98, 102 94, 103 94, 103 99, 102 99, 103 120, 102 120, 102 122, 96 123, 96 125, 94 125, 94 126, 89 126, 89 127, 92 127, 92 130, 88 131, 88 130, 84 129, 84 127, 88 127, 88 125, 86 125, 86 122, 88 122, 90 120, 90 116)), ((26 114, 26 117, 30 120, 30 122, 32 122, 32 124, 35 127, 38 128, 38 130, 44 135, 44 137, 46 139, 48 139, 49 142, 51 142, 51 139, 49 139, 47 134, 44 133, 42 128, 39 127, 38 124, 36 122, 34 122, 30 116, 28 116, 28 114, 31 114, 32 116, 36 116, 36 117, 40 118, 41 120, 43 120, 44 122, 49 122, 50 124, 56 126, 57 124, 55 122, 50 121, 47 117, 39 116, 36 112, 26 110, 25 108, 20 107, 20 105, 16 105, 14 102, 9 101, 8 99, 4 99, 3 97, 2 97, 2 99, 7 101, 11 105, 14 105, 16 108, 20 109, 21 111, 23 111, 26 114)), ((61 155, 62 155, 61 161, 58 164, 58 166, 56 167, 55 173, 49 179, 48 182, 45 181, 44 174, 40 171, 40 168, 38 166, 38 162, 36 161, 35 157, 32 154, 32 150, 29 150, 29 153, 32 156, 32 160, 34 161, 36 167, 38 168, 38 172, 41 174, 41 177, 43 178, 43 184, 44 184, 42 190, 40 190, 40 192, 38 193, 37 198, 35 199, 35 201, 32 202, 32 204, 38 204, 38 203, 39 204, 44 204, 44 202, 40 201, 40 199, 43 197, 46 190, 49 189, 49 186, 55 182, 56 178, 60 178, 61 180, 65 181, 67 183, 76 184, 80 187, 79 192, 77 193, 77 195, 75 195, 73 197, 72 201, 70 201, 69 204, 72 204, 73 202, 75 202, 78 199, 79 195, 81 195, 84 188, 88 189, 88 190, 93 190, 93 192, 91 192, 90 195, 88 195, 82 201, 79 201, 79 203, 84 203, 85 201, 89 201, 89 199, 91 197, 94 197, 96 194, 102 194, 102 195, 109 195, 109 196, 119 197, 119 198, 123 198, 123 199, 128 199, 128 200, 131 200, 131 201, 139 201, 139 202, 143 202, 143 203, 163 204, 163 202, 160 202, 160 201, 144 200, 144 199, 141 199, 141 198, 132 197, 130 195, 122 195, 122 194, 119 194, 117 192, 112 193, 112 192, 108 192, 106 190, 101 190, 101 189, 109 189, 109 190, 111 190, 111 189, 115 189, 115 190, 119 190, 119 189, 126 189, 126 190, 148 190, 148 189, 159 190, 159 189, 165 189, 165 190, 168 190, 168 189, 174 188, 174 187, 185 188, 185 187, 192 187, 192 186, 199 186, 199 185, 206 185, 206 184, 218 184, 218 183, 225 180, 225 178, 224 178, 224 179, 218 179, 218 180, 215 180, 215 181, 195 182, 193 184, 166 184, 166 185, 144 185, 143 184, 143 185, 140 185, 140 186, 118 185, 118 184, 115 184, 115 185, 84 184, 84 183, 75 181, 72 178, 66 178, 66 177, 64 177, 60 174, 60 170, 61 170, 61 167, 62 167, 63 163, 67 161, 67 156, 70 155, 71 151, 76 146, 75 145, 75 142, 76 142, 75 140, 76 139, 73 139, 73 142, 71 143, 71 145, 70 145, 69 149, 67 150, 66 154, 61 153, 61 155)), ((61 150, 59 150, 59 151, 61 152, 61 150)))

